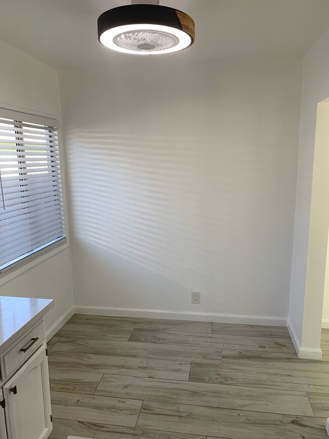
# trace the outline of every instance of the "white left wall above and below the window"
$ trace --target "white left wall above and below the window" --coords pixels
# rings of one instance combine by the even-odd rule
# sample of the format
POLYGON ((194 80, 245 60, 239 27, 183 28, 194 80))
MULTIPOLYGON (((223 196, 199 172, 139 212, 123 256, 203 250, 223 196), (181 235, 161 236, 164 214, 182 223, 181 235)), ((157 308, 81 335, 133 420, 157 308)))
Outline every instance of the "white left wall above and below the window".
MULTIPOLYGON (((56 70, 1 42, 0 60, 0 106, 60 116, 56 70)), ((46 317, 47 329, 72 307, 69 248, 16 274, 0 280, 0 295, 55 299, 55 307, 46 317)))

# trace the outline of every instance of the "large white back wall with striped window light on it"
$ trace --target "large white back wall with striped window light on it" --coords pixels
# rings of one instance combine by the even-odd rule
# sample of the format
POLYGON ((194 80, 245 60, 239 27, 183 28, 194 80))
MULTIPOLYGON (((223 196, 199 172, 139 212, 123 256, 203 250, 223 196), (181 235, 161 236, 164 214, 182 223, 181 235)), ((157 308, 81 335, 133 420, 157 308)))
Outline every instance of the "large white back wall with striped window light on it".
POLYGON ((74 303, 285 324, 302 62, 150 58, 60 76, 74 303))

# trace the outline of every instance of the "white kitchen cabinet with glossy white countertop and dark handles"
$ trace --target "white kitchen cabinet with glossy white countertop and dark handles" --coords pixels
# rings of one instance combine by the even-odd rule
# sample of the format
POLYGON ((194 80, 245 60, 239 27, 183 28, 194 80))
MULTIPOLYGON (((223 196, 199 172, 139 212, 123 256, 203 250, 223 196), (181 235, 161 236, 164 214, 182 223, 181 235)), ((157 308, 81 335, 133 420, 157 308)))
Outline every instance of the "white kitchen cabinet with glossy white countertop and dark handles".
POLYGON ((47 439, 52 431, 44 322, 52 306, 0 296, 0 439, 47 439))

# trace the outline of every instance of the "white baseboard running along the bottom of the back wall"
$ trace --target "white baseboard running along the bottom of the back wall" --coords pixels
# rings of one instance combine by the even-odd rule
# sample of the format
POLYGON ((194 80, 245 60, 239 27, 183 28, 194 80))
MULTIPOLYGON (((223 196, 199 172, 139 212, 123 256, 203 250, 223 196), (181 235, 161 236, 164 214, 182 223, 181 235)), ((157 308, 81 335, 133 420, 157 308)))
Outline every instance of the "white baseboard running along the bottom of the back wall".
POLYGON ((172 320, 192 320, 198 322, 240 323, 247 325, 286 326, 284 317, 255 315, 217 314, 209 312, 163 311, 159 309, 113 308, 105 306, 75 305, 79 314, 113 315, 121 317, 169 318, 172 320))

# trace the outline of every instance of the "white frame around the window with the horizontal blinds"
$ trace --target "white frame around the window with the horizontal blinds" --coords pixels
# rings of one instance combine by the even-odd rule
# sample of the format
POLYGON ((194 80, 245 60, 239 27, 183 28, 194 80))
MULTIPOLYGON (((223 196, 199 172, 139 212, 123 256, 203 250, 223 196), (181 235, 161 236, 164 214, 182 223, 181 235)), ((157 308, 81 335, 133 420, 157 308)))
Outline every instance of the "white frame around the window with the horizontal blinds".
MULTIPOLYGON (((55 254, 61 252, 68 248, 68 222, 67 222, 67 209, 65 200, 65 186, 64 186, 64 161, 62 154, 62 133, 60 130, 60 122, 56 118, 44 117, 30 113, 23 113, 20 111, 10 110, 0 107, 0 117, 11 119, 15 125, 19 128, 19 124, 31 123, 37 125, 43 125, 45 127, 56 127, 58 136, 58 154, 60 159, 60 172, 61 172, 61 184, 62 184, 62 206, 63 206, 63 216, 64 216, 64 237, 56 238, 49 243, 28 252, 27 255, 22 255, 16 259, 13 259, 8 264, 5 264, 4 268, 0 270, 0 286, 10 281, 12 278, 20 275, 24 271, 34 267, 35 265, 45 261, 46 259, 54 256, 55 254)), ((22 128, 22 126, 21 126, 22 128)), ((51 133, 52 131, 50 131, 51 133)), ((20 145, 19 132, 16 136, 16 151, 19 157, 20 145)), ((24 153, 25 151, 23 151, 24 153)))

